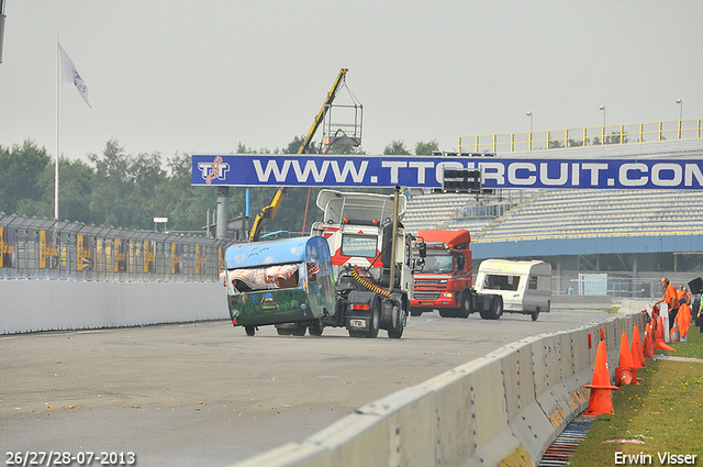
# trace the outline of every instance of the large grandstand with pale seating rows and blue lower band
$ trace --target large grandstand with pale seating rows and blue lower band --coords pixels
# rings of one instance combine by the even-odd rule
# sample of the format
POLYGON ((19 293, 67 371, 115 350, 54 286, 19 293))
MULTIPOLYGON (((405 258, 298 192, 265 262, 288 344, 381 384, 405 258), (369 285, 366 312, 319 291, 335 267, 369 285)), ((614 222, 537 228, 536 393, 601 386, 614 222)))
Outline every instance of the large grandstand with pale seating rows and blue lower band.
MULTIPOLYGON (((498 156, 701 160, 702 134, 699 131, 688 141, 660 138, 498 156)), ((661 276, 684 285, 703 276, 701 190, 531 189, 480 197, 410 190, 403 222, 415 233, 468 230, 475 268, 486 258, 549 262, 557 293, 582 285, 584 275, 605 273, 609 294, 659 297, 661 276)))

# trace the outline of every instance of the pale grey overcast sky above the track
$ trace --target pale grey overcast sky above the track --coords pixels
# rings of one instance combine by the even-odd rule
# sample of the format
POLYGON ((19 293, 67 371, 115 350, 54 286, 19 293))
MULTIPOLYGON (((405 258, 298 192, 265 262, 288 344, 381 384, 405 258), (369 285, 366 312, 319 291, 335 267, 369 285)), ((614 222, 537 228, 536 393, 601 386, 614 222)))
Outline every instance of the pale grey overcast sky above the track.
MULTIPOLYGON (((0 145, 230 153, 308 133, 339 69, 362 147, 703 118, 700 0, 5 0, 0 145)), ((343 102, 343 94, 339 100, 343 102)), ((315 140, 320 141, 321 133, 315 140)))

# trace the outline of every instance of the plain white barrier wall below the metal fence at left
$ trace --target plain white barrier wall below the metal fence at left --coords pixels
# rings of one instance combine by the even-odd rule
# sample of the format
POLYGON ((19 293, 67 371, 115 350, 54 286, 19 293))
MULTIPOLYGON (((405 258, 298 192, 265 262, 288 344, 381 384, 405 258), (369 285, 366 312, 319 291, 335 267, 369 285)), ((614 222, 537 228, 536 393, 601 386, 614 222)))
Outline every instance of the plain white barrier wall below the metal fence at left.
POLYGON ((220 282, 0 280, 0 334, 228 316, 220 282))

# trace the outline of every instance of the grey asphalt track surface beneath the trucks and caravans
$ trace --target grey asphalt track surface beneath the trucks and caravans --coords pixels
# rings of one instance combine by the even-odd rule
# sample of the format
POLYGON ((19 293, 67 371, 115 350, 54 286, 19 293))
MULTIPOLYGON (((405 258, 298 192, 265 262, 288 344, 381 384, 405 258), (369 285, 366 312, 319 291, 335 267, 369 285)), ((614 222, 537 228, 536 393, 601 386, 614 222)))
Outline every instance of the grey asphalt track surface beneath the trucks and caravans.
POLYGON ((227 321, 1 336, 3 465, 7 453, 54 451, 132 452, 142 467, 227 466, 511 342, 606 318, 433 312, 411 316, 401 340, 343 329, 279 336, 272 326, 248 337, 227 321))

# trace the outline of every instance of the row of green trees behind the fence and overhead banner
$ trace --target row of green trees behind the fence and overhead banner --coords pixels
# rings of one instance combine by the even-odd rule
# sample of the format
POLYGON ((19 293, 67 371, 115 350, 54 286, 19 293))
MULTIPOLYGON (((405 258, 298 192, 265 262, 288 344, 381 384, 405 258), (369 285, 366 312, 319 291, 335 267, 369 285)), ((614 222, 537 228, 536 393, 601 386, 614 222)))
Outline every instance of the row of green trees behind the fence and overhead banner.
MULTIPOLYGON (((282 149, 256 151, 239 143, 233 154, 295 154, 303 136, 295 136, 282 149)), ((314 143, 311 144, 316 152, 314 143)), ((435 140, 419 142, 416 155, 431 155, 435 140)), ((332 147, 327 154, 366 154, 350 146, 332 147)), ((411 154, 401 140, 386 146, 384 155, 411 154)), ((211 187, 192 187, 191 157, 176 154, 163 159, 160 153, 127 154, 116 140, 105 144, 102 154, 88 154, 89 163, 59 157, 59 219, 94 225, 132 230, 153 230, 154 218, 168 218, 171 232, 204 232, 208 210, 214 213, 216 193, 211 187)), ((54 218, 55 162, 45 147, 32 140, 0 146, 0 212, 36 218, 54 218)), ((245 212, 245 187, 231 187, 230 219, 245 212)), ((322 220, 315 207, 320 189, 289 188, 275 219, 265 231, 303 231, 303 216, 310 191, 308 225, 322 220)), ((377 190, 390 192, 388 190, 377 190)), ((250 189, 250 215, 269 204, 276 188, 250 189)))

